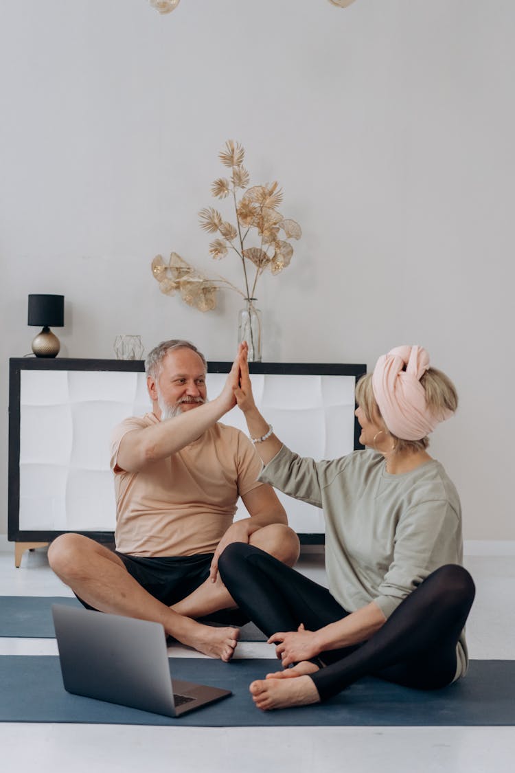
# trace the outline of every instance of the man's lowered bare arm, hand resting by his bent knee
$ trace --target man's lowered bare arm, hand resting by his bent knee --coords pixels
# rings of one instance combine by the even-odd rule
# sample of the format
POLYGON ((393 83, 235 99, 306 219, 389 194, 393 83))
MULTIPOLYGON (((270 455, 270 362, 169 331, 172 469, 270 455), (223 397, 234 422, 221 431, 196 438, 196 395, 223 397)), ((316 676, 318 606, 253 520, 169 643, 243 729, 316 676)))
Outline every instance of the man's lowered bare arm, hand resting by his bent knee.
POLYGON ((211 562, 209 576, 212 582, 215 582, 218 574, 219 557, 228 545, 232 542, 249 543, 252 534, 258 529, 262 529, 263 526, 270 526, 273 523, 283 523, 285 526, 288 524, 286 511, 277 499, 276 492, 268 483, 263 483, 256 489, 242 495, 242 502, 249 512, 249 518, 242 518, 232 523, 222 536, 211 562))

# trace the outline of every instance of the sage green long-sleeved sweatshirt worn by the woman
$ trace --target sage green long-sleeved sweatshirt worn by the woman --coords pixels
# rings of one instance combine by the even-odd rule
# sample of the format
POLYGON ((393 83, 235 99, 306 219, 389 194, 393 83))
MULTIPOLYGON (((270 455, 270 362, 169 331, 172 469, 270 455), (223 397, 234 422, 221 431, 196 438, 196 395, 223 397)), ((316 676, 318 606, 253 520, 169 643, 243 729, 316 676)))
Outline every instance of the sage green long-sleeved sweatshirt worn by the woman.
MULTIPOLYGON (((369 449, 313 461, 283 445, 259 479, 324 510, 329 590, 347 611, 374 601, 388 618, 435 569, 462 564, 459 496, 439 461, 391 475, 369 449)), ((456 654, 457 679, 464 632, 456 654)))

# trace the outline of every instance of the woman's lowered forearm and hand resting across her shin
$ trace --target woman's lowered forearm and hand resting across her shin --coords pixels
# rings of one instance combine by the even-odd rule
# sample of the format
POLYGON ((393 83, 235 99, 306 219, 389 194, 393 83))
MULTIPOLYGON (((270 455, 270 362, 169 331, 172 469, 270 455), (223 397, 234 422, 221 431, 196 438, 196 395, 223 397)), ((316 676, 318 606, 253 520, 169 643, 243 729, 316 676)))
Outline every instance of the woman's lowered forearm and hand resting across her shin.
POLYGON ((324 628, 319 628, 318 631, 306 631, 301 625, 295 632, 274 633, 268 643, 277 645, 277 657, 282 659, 283 666, 290 666, 291 663, 322 655, 327 649, 342 649, 365 642, 385 625, 385 622, 385 615, 378 605, 371 601, 365 607, 330 625, 324 625, 324 628))

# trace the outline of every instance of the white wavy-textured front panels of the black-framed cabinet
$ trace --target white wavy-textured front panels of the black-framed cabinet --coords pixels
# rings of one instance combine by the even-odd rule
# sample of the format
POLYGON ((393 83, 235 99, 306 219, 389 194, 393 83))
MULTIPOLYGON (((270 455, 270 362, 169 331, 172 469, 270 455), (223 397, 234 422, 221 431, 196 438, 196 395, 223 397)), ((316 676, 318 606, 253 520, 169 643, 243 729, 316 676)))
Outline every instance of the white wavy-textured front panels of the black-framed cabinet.
MULTIPOLYGON (((225 378, 225 373, 208 373, 208 397, 219 394, 225 378)), ((355 377, 348 375, 252 375, 256 403, 277 436, 300 455, 315 459, 353 450, 354 386, 355 377)), ((19 530, 113 531, 110 434, 124 418, 148 410, 151 402, 144 373, 77 366, 54 370, 51 364, 22 367, 19 530)), ((246 432, 237 408, 222 422, 246 432)), ((283 494, 280 499, 297 532, 324 532, 319 509, 283 494)), ((245 515, 240 506, 236 517, 245 515)))

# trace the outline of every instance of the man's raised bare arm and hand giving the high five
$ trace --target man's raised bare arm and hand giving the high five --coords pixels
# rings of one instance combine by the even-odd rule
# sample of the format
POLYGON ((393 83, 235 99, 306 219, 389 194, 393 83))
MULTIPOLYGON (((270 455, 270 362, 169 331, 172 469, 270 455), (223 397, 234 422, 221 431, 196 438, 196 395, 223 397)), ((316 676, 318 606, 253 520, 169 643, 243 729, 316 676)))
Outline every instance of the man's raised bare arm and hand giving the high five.
POLYGON ((151 427, 127 432, 120 441, 117 466, 125 472, 138 472, 151 462, 165 459, 199 438, 235 406, 232 385, 237 373, 239 363, 235 361, 222 392, 215 400, 160 421, 159 424, 152 424, 151 427))

